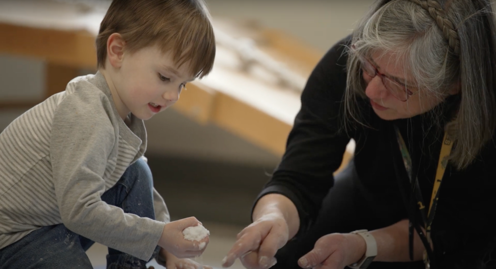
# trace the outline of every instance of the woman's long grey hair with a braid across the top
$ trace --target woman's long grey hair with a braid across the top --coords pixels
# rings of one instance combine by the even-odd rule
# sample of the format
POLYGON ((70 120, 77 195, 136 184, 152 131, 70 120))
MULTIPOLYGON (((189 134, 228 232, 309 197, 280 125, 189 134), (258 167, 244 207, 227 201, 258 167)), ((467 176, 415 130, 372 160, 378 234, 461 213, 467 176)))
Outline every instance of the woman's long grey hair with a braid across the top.
MULTIPOLYGON (((349 54, 347 63, 345 128, 356 122, 366 125, 358 106, 366 98, 366 85, 357 54, 389 53, 410 71, 422 89, 419 94, 443 100, 450 87, 460 86, 458 110, 447 127, 455 141, 450 161, 466 168, 496 128, 495 33, 488 0, 376 1, 353 33, 356 53, 349 54)), ((430 111, 437 122, 439 107, 430 111)))

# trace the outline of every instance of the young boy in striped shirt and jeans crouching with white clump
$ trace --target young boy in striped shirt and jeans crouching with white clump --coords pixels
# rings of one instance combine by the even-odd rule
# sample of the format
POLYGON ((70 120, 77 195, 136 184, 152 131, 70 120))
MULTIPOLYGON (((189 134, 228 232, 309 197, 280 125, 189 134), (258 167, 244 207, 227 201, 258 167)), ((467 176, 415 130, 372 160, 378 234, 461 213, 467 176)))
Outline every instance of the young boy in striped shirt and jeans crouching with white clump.
MULTIPOLYGON (((141 158, 143 120, 208 74, 215 38, 203 0, 114 0, 96 41, 98 72, 15 119, 0 134, 0 268, 197 268, 200 242, 170 222, 141 158), (179 257, 179 258, 177 258, 179 257)), ((204 244, 203 244, 204 242, 204 244)))

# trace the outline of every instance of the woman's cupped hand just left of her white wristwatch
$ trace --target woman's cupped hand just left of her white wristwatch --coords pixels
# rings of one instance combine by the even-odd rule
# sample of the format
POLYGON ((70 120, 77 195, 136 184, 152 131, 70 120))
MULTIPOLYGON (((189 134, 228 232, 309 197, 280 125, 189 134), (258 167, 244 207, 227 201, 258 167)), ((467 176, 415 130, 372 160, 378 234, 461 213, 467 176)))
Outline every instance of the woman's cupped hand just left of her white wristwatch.
POLYGON ((315 247, 298 260, 298 265, 304 269, 343 269, 358 262, 366 250, 362 236, 332 233, 318 239, 315 247))

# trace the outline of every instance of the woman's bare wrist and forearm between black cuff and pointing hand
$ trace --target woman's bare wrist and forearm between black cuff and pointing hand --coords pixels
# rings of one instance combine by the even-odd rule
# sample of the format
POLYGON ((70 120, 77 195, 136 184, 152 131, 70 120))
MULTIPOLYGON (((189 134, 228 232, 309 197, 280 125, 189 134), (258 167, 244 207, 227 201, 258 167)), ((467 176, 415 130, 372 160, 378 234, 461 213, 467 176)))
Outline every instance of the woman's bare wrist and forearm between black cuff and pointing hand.
POLYGON ((300 229, 300 216, 295 204, 284 195, 267 194, 260 198, 253 209, 253 221, 268 214, 281 214, 289 228, 289 238, 293 238, 300 229))

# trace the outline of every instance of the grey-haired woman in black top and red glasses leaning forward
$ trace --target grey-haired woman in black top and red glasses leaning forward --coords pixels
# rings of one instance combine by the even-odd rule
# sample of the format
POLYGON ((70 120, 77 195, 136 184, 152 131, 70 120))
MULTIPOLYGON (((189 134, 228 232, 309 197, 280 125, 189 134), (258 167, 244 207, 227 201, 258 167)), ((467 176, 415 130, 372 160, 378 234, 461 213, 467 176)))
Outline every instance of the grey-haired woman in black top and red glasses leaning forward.
POLYGON ((223 265, 495 268, 495 33, 488 0, 377 1, 313 70, 223 265))

